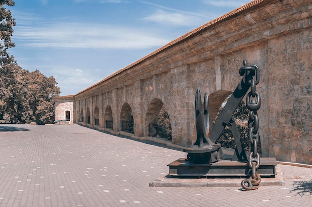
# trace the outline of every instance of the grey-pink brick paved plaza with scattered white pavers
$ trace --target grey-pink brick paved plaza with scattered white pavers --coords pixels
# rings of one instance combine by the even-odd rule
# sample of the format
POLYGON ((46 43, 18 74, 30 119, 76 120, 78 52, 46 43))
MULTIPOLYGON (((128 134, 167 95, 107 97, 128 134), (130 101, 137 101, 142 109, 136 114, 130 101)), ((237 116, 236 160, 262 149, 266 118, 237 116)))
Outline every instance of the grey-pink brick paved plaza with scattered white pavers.
POLYGON ((149 187, 186 153, 73 125, 0 125, 0 207, 310 207, 312 169, 284 186, 149 187))

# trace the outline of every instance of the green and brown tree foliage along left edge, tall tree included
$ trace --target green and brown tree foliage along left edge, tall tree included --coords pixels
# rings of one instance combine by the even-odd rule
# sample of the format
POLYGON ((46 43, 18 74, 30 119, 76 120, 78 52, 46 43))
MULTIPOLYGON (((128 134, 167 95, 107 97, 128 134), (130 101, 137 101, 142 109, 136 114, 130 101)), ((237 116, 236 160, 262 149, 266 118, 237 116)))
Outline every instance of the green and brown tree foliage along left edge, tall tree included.
POLYGON ((6 9, 13 5, 12 0, 0 0, 0 120, 51 123, 54 121, 52 97, 60 94, 55 78, 21 68, 7 51, 15 46, 11 39, 15 19, 6 9))

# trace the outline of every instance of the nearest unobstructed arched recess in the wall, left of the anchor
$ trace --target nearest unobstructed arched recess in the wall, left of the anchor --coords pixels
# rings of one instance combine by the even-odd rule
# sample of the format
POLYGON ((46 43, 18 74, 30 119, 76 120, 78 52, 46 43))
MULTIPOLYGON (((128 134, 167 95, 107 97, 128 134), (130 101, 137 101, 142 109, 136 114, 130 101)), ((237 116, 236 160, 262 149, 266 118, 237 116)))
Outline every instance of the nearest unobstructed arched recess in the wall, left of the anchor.
POLYGON ((145 129, 149 137, 172 139, 170 117, 163 102, 158 98, 153 99, 148 105, 145 129))

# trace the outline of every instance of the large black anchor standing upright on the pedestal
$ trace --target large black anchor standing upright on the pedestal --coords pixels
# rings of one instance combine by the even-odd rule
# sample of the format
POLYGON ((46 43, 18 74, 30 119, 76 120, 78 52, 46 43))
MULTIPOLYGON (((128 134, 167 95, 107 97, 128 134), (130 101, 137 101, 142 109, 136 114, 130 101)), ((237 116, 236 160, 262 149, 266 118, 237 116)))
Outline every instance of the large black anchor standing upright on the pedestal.
MULTIPOLYGON (((203 114, 200 91, 199 89, 196 90, 195 110, 197 140, 191 147, 184 149, 184 152, 188 153, 188 161, 193 163, 213 163, 221 159, 223 156, 221 146, 215 142, 227 125, 232 131, 236 144, 232 161, 248 161, 233 114, 248 92, 249 88, 252 86, 252 90, 255 90, 255 85, 259 83, 259 68, 256 65, 247 66, 246 60, 243 61, 243 65, 244 66, 239 70, 239 73, 241 76, 243 76, 243 78, 217 117, 214 126, 209 132, 209 137, 207 137, 207 131, 209 131, 208 95, 205 93, 203 114)), ((260 96, 258 95, 257 97, 260 96)), ((247 99, 247 102, 249 102, 249 99, 247 99)), ((255 101, 252 99, 251 102, 259 103, 260 105, 260 101, 255 101)))

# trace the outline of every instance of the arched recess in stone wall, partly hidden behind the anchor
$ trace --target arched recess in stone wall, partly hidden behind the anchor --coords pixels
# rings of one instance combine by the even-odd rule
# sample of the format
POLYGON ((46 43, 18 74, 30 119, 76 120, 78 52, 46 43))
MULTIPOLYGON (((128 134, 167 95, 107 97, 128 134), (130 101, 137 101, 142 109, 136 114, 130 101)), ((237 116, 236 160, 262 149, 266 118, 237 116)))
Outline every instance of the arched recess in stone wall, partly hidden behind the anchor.
MULTIPOLYGON (((214 124, 216 118, 222 111, 223 107, 227 103, 229 97, 232 95, 232 92, 219 90, 216 91, 209 96, 209 109, 210 109, 210 118, 212 118, 210 124, 214 124)), ((243 99, 244 100, 244 99, 243 99)), ((246 107, 244 101, 241 101, 240 105, 237 107, 233 116, 235 119, 235 123, 237 125, 241 142, 243 143, 243 147, 245 151, 251 150, 251 144, 249 141, 249 132, 248 132, 248 120, 249 120, 249 110, 246 107)), ((235 141, 233 138, 232 131, 229 126, 226 126, 221 133, 220 137, 216 141, 220 143, 222 147, 235 149, 235 141)), ((259 140, 258 144, 258 152, 261 153, 261 141, 259 140)))

